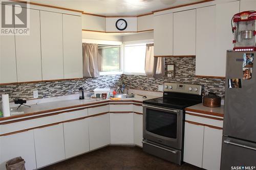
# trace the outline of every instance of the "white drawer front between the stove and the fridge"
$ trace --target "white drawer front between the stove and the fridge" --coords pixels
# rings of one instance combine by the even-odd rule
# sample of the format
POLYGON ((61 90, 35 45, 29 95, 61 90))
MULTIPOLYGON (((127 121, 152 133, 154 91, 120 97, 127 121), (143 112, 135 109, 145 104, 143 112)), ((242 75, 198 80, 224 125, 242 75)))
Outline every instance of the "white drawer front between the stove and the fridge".
MULTIPOLYGON (((213 117, 215 118, 215 117, 213 117)), ((186 114, 185 120, 188 120, 190 122, 196 122, 200 124, 210 125, 210 126, 216 126, 216 127, 223 127, 223 120, 213 119, 213 118, 205 118, 200 116, 194 116, 190 114, 186 114)))

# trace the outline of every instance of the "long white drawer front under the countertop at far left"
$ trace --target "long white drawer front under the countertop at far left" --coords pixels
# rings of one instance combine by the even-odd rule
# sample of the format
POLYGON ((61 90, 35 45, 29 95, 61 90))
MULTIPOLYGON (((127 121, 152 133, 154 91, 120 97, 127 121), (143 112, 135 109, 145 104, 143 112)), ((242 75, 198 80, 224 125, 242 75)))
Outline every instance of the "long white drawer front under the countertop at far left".
POLYGON ((0 134, 15 132, 19 130, 34 128, 38 126, 44 126, 57 122, 62 122, 74 118, 88 116, 88 109, 76 110, 72 112, 60 113, 52 116, 34 118, 30 120, 24 120, 21 122, 0 125, 0 134))

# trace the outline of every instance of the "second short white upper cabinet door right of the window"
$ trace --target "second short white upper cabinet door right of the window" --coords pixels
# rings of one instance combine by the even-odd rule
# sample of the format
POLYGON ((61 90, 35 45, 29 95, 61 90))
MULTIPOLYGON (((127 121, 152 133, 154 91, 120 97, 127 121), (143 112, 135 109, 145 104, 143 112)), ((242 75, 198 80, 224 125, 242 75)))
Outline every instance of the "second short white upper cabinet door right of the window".
POLYGON ((196 10, 174 13, 174 56, 196 55, 196 10))

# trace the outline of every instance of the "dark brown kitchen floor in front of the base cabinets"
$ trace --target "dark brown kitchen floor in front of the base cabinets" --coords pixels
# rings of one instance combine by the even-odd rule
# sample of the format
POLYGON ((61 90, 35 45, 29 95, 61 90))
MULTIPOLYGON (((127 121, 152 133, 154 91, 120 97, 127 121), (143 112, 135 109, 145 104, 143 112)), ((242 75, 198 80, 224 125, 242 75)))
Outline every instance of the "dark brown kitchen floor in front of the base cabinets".
POLYGON ((184 163, 177 165, 144 153, 141 148, 133 146, 108 146, 83 154, 40 170, 202 170, 184 163))

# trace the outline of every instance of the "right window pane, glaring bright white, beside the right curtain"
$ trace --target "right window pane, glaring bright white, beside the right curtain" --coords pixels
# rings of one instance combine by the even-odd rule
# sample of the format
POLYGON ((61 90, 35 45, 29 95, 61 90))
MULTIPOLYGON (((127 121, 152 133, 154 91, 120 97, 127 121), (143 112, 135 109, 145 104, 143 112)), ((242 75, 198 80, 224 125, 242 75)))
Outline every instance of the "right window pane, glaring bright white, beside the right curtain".
POLYGON ((124 74, 145 75, 146 43, 153 40, 131 42, 124 45, 124 74))

